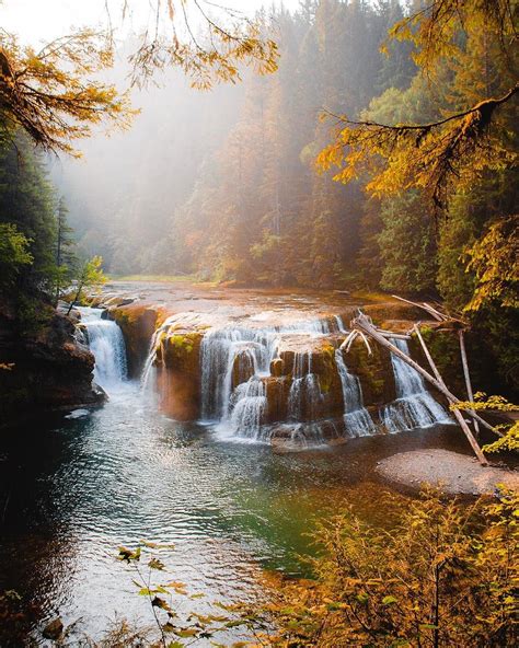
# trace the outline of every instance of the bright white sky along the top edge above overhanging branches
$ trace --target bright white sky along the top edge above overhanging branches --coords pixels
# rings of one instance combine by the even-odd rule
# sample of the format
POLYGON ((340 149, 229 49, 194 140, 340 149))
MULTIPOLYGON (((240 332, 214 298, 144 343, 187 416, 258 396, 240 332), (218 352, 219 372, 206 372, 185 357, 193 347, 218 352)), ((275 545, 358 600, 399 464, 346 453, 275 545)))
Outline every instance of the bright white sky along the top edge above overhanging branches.
MULTIPOLYGON (((0 25, 19 34, 23 42, 37 44, 67 33, 71 26, 105 26, 106 2, 113 22, 117 23, 122 0, 0 0, 0 25)), ((165 4, 165 0, 162 3, 165 4)), ((125 28, 138 30, 148 19, 150 0, 129 0, 129 4, 132 18, 127 19, 125 28)), ((262 4, 280 4, 280 0, 221 0, 221 4, 251 13, 262 4)), ((284 0, 282 4, 295 9, 299 0, 284 0)))

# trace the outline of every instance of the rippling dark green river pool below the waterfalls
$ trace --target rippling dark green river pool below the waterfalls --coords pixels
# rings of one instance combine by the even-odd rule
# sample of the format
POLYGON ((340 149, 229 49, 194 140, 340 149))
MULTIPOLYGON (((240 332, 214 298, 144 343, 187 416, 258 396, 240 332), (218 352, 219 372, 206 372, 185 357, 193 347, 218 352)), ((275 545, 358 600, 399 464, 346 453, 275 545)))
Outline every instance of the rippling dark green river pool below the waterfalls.
POLYGON ((122 544, 174 543, 161 555, 169 578, 207 600, 252 595, 264 568, 304 571, 298 556, 313 551, 315 519, 353 504, 384 523, 379 459, 423 447, 469 451, 449 427, 276 454, 168 419, 132 383, 83 414, 2 432, 0 590, 37 605, 34 628, 59 614, 81 618, 94 637, 115 614, 149 621, 131 569, 116 559, 122 544))

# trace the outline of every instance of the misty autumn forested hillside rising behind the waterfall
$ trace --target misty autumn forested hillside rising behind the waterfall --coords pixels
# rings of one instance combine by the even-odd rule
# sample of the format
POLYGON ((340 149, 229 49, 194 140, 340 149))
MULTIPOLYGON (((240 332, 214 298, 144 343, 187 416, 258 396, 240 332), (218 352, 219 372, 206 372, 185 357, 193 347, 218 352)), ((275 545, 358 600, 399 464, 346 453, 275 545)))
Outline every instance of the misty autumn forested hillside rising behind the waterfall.
MULTIPOLYGON (((514 101, 499 107, 492 127, 482 126, 489 143, 476 147, 475 157, 455 153, 452 163, 447 157, 452 177, 441 199, 434 195, 434 170, 427 175, 447 141, 441 137, 432 141, 424 177, 419 169, 405 178, 401 172, 414 157, 412 143, 380 182, 376 164, 339 171, 334 182, 341 153, 332 144, 320 155, 341 132, 343 116, 422 125, 514 88, 514 55, 503 46, 510 35, 498 20, 462 25, 460 19, 455 36, 445 35, 446 53, 429 65, 413 23, 407 33, 390 35, 422 7, 412 4, 305 0, 297 12, 265 11, 265 32, 279 44, 276 74, 247 70, 239 86, 194 96, 197 91, 168 72, 162 88, 136 93, 142 115, 130 134, 94 139, 86 163, 58 170, 82 247, 101 253, 116 275, 195 274, 234 285, 440 298, 450 309, 469 308, 492 362, 511 385, 514 101), (489 268, 484 251, 492 242, 489 268)), ((474 13, 474 21, 482 15, 474 13)), ((120 66, 115 74, 124 77, 120 66)))

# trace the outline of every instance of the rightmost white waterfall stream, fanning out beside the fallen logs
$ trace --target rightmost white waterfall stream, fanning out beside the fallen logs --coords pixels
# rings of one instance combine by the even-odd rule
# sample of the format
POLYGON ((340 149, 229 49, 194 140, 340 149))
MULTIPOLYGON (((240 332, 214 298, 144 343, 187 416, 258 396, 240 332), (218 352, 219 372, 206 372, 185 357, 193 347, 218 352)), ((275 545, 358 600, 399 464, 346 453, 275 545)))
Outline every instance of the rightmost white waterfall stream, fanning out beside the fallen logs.
MULTIPOLYGON (((392 339, 401 351, 408 355, 405 339, 392 339)), ((451 423, 443 407, 426 390, 420 374, 406 362, 391 355, 396 400, 381 412, 381 419, 389 432, 426 428, 438 423, 451 423)))

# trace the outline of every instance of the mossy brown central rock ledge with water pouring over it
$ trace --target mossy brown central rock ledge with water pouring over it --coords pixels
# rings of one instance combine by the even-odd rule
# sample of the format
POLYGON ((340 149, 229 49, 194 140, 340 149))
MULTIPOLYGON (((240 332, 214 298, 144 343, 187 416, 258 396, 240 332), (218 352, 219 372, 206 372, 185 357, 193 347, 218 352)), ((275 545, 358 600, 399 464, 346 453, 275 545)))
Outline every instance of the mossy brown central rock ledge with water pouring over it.
MULTIPOLYGON (((223 423, 229 433, 260 435, 277 445, 304 442, 308 430, 339 442, 387 432, 382 413, 401 398, 387 349, 372 344, 368 352, 357 339, 348 352, 338 351, 357 306, 344 305, 336 315, 301 310, 298 319, 293 305, 285 317, 277 310, 237 313, 232 305, 112 304, 107 316, 125 336, 130 377, 146 366, 161 409, 177 420, 204 417, 223 423)), ((423 315, 395 301, 362 310, 394 332, 410 331, 423 315)), ((408 348, 423 360, 414 340, 408 348)))

